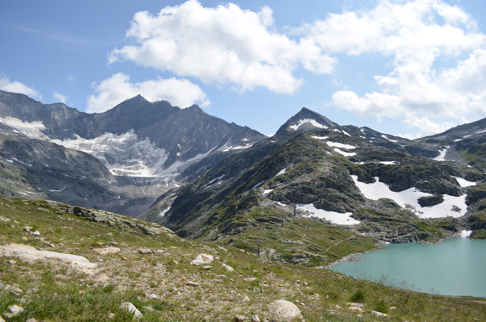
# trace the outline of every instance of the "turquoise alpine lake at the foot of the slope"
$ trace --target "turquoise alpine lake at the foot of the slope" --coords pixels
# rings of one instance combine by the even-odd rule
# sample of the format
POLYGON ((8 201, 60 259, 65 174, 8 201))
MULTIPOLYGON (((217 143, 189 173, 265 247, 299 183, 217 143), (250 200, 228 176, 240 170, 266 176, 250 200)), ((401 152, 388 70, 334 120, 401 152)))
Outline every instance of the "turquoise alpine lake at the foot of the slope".
POLYGON ((377 281, 388 277, 417 291, 486 297, 486 240, 449 238, 436 244, 384 244, 384 248, 342 261, 330 269, 377 281))

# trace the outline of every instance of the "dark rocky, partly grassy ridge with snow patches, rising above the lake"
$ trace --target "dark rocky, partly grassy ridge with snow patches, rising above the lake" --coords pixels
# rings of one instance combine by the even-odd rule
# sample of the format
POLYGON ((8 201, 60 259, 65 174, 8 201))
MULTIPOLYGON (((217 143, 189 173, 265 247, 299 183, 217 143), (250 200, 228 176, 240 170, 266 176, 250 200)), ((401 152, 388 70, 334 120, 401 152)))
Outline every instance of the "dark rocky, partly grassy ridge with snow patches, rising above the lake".
MULTIPOLYGON (((180 236, 238 247, 251 235, 272 242, 272 230, 295 216, 381 242, 434 242, 470 229, 463 216, 485 208, 484 172, 434 160, 440 145, 352 125, 293 129, 299 118, 160 196, 139 218, 180 236)), ((294 246, 303 251, 287 244, 294 246)), ((322 253, 316 249, 306 251, 322 253)))

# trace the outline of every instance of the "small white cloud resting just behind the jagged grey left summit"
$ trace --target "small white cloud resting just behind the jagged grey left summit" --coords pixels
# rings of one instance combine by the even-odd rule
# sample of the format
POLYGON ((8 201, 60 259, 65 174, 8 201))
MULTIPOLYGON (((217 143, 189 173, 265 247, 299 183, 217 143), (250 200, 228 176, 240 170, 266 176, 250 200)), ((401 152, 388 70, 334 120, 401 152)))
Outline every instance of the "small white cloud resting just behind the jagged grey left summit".
POLYGON ((130 83, 129 79, 130 76, 119 72, 99 85, 93 83, 97 95, 88 98, 86 111, 101 113, 139 94, 150 102, 166 100, 181 108, 190 107, 195 102, 201 102, 203 107, 210 104, 206 93, 187 79, 159 77, 140 83, 130 83))

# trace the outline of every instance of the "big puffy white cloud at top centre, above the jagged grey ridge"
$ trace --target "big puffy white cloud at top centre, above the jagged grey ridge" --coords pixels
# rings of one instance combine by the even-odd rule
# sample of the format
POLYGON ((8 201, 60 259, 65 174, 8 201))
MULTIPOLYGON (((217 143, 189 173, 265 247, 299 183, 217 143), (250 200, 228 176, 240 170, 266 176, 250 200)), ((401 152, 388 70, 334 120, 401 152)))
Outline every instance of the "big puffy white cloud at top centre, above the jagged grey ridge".
POLYGON ((157 15, 138 12, 126 33, 136 43, 113 50, 108 62, 127 59, 205 83, 277 93, 302 85, 293 75, 298 66, 316 74, 333 71, 335 58, 312 38, 295 41, 276 32, 272 15, 268 7, 259 12, 233 3, 205 8, 195 0, 167 6, 157 15))

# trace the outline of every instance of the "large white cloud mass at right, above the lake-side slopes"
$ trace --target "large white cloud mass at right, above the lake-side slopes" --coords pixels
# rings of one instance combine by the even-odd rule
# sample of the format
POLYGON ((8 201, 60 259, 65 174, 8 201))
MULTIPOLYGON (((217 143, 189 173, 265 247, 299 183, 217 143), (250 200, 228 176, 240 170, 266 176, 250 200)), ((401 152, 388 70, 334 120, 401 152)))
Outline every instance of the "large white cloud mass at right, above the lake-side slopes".
POLYGON ((457 6, 440 0, 381 1, 359 15, 333 14, 303 28, 331 53, 392 57, 394 70, 375 76, 381 91, 363 96, 336 91, 331 105, 379 120, 401 117, 422 134, 452 125, 430 118, 465 120, 469 113, 486 112, 486 36, 457 6), (438 58, 464 54, 469 57, 455 67, 434 68, 438 58))

